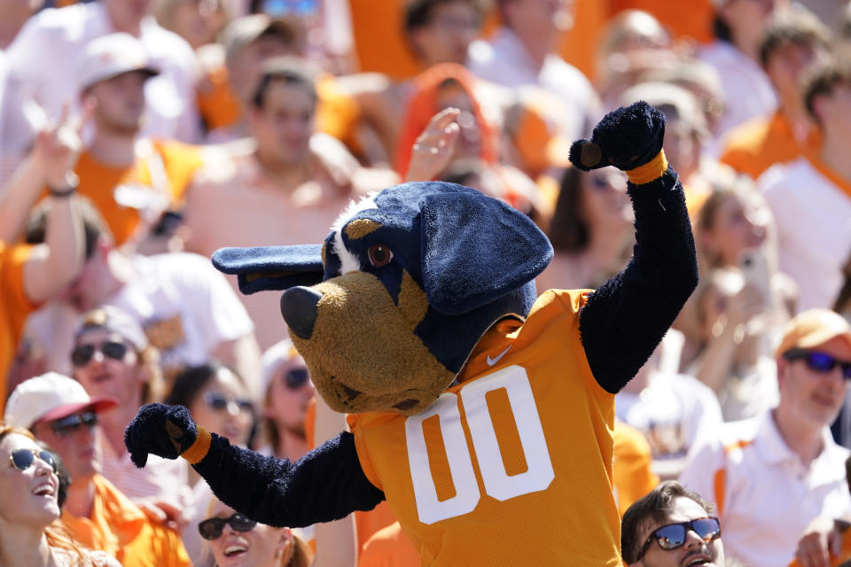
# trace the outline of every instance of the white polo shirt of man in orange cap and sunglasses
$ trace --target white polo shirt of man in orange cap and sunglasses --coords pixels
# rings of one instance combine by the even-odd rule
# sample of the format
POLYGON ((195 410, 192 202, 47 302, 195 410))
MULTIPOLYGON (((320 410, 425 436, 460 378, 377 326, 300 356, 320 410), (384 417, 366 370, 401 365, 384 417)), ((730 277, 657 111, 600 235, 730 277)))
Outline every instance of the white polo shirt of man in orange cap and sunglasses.
POLYGON ((788 565, 814 518, 851 512, 848 450, 833 442, 829 428, 823 436, 824 450, 806 468, 768 411, 726 423, 719 438, 692 453, 680 482, 720 509, 727 556, 749 567, 788 565))

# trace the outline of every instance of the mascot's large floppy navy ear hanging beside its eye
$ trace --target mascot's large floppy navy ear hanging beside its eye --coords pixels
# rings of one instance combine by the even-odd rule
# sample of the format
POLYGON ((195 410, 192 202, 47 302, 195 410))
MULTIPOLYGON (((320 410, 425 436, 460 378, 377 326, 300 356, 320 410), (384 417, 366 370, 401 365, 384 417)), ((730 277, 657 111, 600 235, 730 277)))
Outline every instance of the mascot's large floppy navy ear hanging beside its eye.
POLYGON ((543 272, 552 246, 525 214, 478 191, 421 202, 423 287, 429 304, 461 315, 543 272))

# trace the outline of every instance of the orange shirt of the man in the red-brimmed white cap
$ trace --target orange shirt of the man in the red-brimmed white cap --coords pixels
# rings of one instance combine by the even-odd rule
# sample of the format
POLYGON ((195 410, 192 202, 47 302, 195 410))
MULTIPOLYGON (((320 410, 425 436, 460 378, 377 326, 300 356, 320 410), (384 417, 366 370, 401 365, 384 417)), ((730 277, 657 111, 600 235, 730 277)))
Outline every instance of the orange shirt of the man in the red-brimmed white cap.
POLYGON ((62 523, 84 547, 113 555, 123 567, 191 565, 183 541, 173 530, 154 524, 108 480, 95 475, 90 517, 62 514, 62 523))

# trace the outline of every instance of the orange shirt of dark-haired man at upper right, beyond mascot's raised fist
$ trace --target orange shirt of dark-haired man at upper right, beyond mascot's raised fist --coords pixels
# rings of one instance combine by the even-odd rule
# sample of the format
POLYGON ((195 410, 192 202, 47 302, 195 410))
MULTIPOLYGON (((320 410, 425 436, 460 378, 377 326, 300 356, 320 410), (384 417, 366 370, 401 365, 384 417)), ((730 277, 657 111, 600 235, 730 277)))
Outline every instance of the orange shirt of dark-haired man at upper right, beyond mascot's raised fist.
POLYGON ((725 136, 725 142, 721 162, 756 179, 776 163, 816 151, 822 144, 822 135, 818 128, 813 128, 799 142, 792 123, 777 111, 770 117, 754 118, 733 128, 725 136))

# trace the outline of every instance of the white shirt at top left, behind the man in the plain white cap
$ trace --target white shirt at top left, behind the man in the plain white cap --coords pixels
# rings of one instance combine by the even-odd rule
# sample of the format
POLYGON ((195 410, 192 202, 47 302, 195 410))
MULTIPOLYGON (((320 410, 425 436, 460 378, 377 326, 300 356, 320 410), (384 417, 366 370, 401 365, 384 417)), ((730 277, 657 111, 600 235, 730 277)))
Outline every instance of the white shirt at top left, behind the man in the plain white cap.
MULTIPOLYGON (((79 108, 77 69, 90 41, 115 31, 103 4, 92 2, 37 13, 21 28, 5 52, 7 73, 0 105, 0 155, 19 159, 40 125, 27 118, 37 101, 56 120, 62 105, 79 108)), ((152 16, 143 19, 140 42, 160 74, 145 83, 146 109, 142 134, 197 142, 200 120, 195 102, 199 68, 189 43, 160 27, 152 16)), ((8 165, 8 164, 6 164, 8 165)), ((6 170, 9 167, 2 167, 6 170)), ((0 178, 0 182, 3 179, 0 178)))

